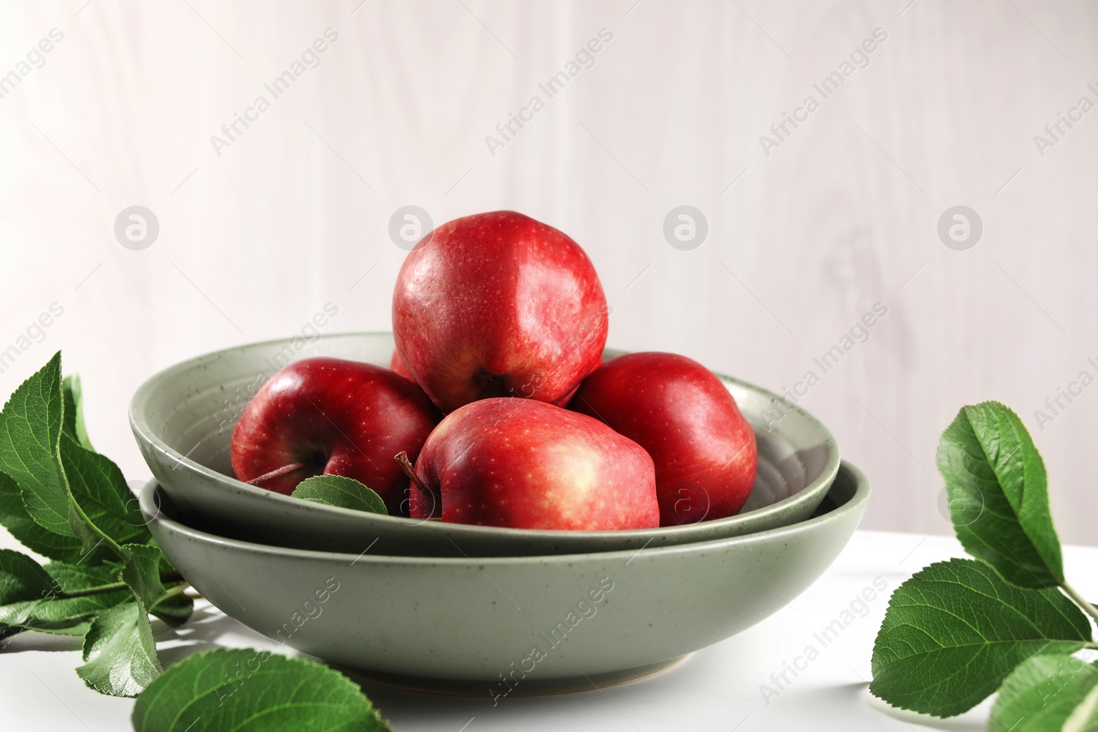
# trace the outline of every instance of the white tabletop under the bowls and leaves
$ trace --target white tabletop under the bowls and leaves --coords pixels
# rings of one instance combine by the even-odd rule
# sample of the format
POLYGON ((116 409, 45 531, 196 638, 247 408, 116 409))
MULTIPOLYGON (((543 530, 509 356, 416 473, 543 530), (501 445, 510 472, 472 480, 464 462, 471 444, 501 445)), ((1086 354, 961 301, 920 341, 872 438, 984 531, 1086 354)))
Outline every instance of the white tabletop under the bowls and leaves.
MULTIPOLYGON (((18 548, 5 532, 0 545, 18 548)), ((1098 548, 1066 547, 1069 581, 1098 598, 1098 548)), ((491 699, 433 696, 369 687, 367 694, 397 732, 598 730, 598 732, 752 732, 755 730, 982 730, 989 701, 967 714, 937 720, 894 710, 867 691, 873 639, 888 595, 931 562, 962 556, 951 537, 859 531, 828 572, 789 607, 735 638, 691 655, 657 676, 616 687, 549 697, 491 699), (859 598, 874 578, 887 587, 869 611, 827 647, 814 633, 859 598), (815 645, 819 656, 778 696, 763 698, 771 674, 815 645)), ((878 583, 879 584, 879 583, 878 583)), ((688 598, 685 598, 688 601, 688 598)), ((164 663, 194 647, 273 644, 200 600, 194 617, 172 631, 155 623, 164 663)), ((79 639, 20 633, 0 650, 5 730, 126 730, 132 699, 99 695, 74 668, 79 639)), ((803 664, 802 664, 803 665, 803 664)))

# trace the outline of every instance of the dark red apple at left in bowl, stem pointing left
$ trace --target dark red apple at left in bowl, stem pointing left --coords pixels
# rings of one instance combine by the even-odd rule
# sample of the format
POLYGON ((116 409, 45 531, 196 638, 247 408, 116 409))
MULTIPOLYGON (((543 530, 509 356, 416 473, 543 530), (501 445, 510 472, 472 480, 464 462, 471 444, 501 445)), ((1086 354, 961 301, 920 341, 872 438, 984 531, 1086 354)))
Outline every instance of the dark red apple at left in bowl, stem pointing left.
POLYGON ((423 390, 389 369, 328 358, 295 361, 240 414, 233 471, 285 495, 306 477, 345 475, 399 515, 407 477, 393 455, 417 455, 441 418, 423 390))

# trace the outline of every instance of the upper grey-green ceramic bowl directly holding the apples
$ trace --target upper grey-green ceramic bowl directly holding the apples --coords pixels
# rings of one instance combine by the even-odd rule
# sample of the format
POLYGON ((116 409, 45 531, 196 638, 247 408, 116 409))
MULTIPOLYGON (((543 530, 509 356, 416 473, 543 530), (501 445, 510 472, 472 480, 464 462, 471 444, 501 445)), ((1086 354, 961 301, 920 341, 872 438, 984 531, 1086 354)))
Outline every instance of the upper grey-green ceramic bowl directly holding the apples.
MULTIPOLYGON (((720 376, 755 430, 759 472, 737 516, 630 531, 538 531, 419 521, 323 506, 232 477, 229 442, 244 405, 291 361, 330 356, 386 365, 391 334, 242 346, 184 361, 136 392, 130 424, 145 461, 184 516, 220 532, 296 549, 408 556, 523 556, 669 547, 743 536, 811 516, 839 469, 839 447, 815 417, 777 395, 720 376), (374 542, 377 544, 374 545, 374 542)), ((620 351, 606 351, 606 358, 620 351)), ((719 375, 719 374, 718 374, 719 375)))

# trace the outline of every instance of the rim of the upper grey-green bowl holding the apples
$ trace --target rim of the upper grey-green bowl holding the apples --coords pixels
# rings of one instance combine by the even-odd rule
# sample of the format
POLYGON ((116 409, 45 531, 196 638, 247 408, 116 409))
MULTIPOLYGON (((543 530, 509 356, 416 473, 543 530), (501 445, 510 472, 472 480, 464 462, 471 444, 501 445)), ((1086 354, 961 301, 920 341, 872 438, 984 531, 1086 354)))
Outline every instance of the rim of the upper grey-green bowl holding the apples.
MULTIPOLYGON (((322 334, 317 338, 313 339, 311 342, 317 342, 322 340, 335 340, 343 338, 354 338, 361 336, 382 336, 386 338, 392 338, 391 330, 359 330, 349 333, 332 333, 322 334)), ((291 510, 300 511, 311 511, 318 514, 321 516, 325 514, 330 514, 335 511, 337 515, 343 515, 348 518, 357 519, 363 523, 371 523, 373 521, 389 521, 389 522, 400 522, 408 528, 419 527, 423 521, 408 518, 406 516, 383 516, 380 514, 367 514, 363 511, 357 511, 350 508, 341 508, 339 506, 327 506, 324 504, 316 504, 313 502, 295 499, 291 496, 282 495, 280 493, 274 493, 272 491, 266 491, 264 488, 248 485, 247 483, 237 480, 233 475, 225 475, 211 468, 203 465, 202 463, 191 460, 187 454, 183 454, 176 450, 175 448, 168 446, 167 442, 161 440, 156 433, 154 433, 152 427, 145 418, 144 410, 145 406, 148 404, 149 398, 153 393, 165 382, 172 380, 175 376, 193 371, 202 363, 206 361, 216 360, 224 358, 226 354, 233 351, 243 351, 245 349, 261 348, 265 346, 274 346, 277 344, 289 344, 294 337, 287 338, 273 338, 270 340, 255 341, 250 344, 243 344, 238 346, 232 346, 229 348, 223 348, 215 351, 209 351, 200 356, 192 357, 184 361, 180 361, 170 367, 161 369, 154 373, 152 376, 146 379, 137 391, 134 392, 133 397, 130 401, 130 428, 138 441, 144 440, 153 449, 166 455, 169 460, 176 463, 178 468, 186 468, 192 472, 202 474, 203 476, 211 478, 213 481, 224 482, 232 487, 237 493, 243 493, 253 496, 256 500, 267 500, 272 502, 276 506, 283 506, 290 508, 291 510)), ((636 351, 621 351, 614 348, 606 348, 604 352, 612 352, 616 356, 625 356, 627 353, 636 351)), ((752 509, 747 513, 736 514, 733 516, 726 516, 722 518, 710 519, 708 521, 696 521, 694 523, 683 523, 680 526, 661 526, 651 529, 620 529, 613 531, 568 531, 562 529, 515 529, 509 527, 494 527, 494 526, 477 526, 471 523, 441 523, 441 522, 427 522, 428 526, 444 527, 447 532, 458 532, 468 536, 481 536, 481 537, 512 537, 515 539, 527 538, 527 539, 540 539, 540 540, 553 540, 559 539, 562 541, 574 540, 597 540, 600 537, 606 536, 620 536, 628 538, 640 538, 640 537, 666 537, 676 534, 690 534, 698 532, 701 527, 714 527, 718 528, 727 523, 739 523, 747 518, 763 517, 775 513, 781 513, 788 506, 793 506, 802 500, 804 500, 805 495, 808 495, 813 491, 821 489, 827 486, 830 489, 830 485, 834 482, 836 475, 839 472, 839 465, 842 463, 842 455, 839 450, 839 443, 831 433, 831 430, 827 428, 824 423, 821 423, 815 415, 802 407, 799 404, 794 404, 788 398, 776 394, 768 388, 752 384, 750 382, 737 379, 735 376, 729 376, 717 371, 712 371, 712 373, 717 376, 721 382, 731 383, 740 388, 757 392, 771 399, 772 404, 781 404, 785 409, 789 412, 795 412, 799 417, 806 419, 808 424, 816 429, 820 437, 820 444, 827 448, 827 461, 825 462, 819 475, 816 480, 808 483, 805 487, 797 491, 791 496, 776 500, 766 506, 752 509)), ((750 423, 749 423, 750 424, 750 423)), ((754 430, 752 425, 752 430, 754 430)), ((825 491, 825 494, 827 492, 825 491)), ((438 529, 427 529, 427 530, 438 530, 438 529)))

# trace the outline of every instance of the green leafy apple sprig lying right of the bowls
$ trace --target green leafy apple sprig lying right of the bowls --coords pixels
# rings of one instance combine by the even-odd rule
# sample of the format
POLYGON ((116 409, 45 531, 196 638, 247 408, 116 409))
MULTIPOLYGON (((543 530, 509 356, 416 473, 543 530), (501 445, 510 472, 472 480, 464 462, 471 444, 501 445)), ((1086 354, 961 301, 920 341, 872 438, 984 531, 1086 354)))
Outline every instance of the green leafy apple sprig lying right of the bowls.
POLYGON ((935 717, 998 690, 994 732, 1098 730, 1098 668, 1072 655, 1098 649, 1087 617, 1098 610, 1064 577, 1029 431, 997 402, 963 407, 942 433, 938 470, 957 539, 979 561, 931 564, 896 588, 870 690, 935 717))

